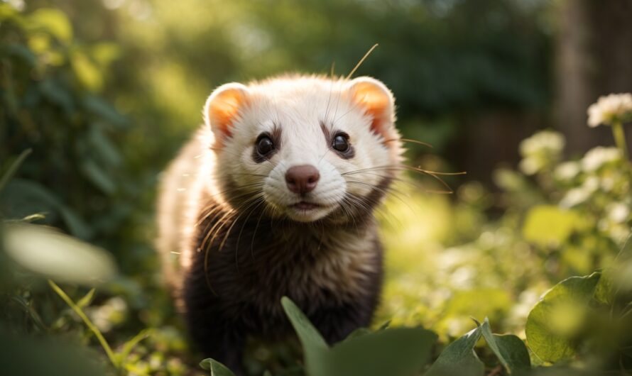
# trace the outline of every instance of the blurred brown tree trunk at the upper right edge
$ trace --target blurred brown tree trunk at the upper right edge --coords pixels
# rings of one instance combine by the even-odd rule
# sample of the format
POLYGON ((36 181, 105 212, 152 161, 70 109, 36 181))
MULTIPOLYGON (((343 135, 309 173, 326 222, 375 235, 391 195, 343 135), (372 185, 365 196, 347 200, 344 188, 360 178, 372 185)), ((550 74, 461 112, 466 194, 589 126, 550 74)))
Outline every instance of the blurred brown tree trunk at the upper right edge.
POLYGON ((559 13, 557 122, 577 154, 611 143, 609 130, 585 129, 587 107, 598 96, 632 92, 632 1, 566 0, 559 13))

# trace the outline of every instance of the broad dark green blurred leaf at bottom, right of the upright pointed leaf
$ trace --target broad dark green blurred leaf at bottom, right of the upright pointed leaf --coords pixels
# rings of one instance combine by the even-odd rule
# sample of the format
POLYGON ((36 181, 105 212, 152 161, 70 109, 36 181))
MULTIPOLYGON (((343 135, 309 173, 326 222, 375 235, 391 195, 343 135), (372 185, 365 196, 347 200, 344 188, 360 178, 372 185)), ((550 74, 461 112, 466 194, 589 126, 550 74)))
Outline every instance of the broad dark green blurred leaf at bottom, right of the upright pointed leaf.
POLYGON ((391 328, 355 336, 334 345, 321 376, 409 376, 430 360, 437 335, 423 328, 391 328))

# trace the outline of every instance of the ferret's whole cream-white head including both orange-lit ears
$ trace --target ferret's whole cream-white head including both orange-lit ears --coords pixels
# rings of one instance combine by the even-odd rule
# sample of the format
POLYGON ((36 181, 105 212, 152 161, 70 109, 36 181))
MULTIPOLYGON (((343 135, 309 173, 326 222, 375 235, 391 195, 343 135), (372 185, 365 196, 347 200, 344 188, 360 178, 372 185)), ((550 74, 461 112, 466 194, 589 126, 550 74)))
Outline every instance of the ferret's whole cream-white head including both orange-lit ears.
POLYGON ((381 199, 401 158, 393 95, 371 77, 224 84, 204 115, 214 175, 238 211, 350 221, 381 199))

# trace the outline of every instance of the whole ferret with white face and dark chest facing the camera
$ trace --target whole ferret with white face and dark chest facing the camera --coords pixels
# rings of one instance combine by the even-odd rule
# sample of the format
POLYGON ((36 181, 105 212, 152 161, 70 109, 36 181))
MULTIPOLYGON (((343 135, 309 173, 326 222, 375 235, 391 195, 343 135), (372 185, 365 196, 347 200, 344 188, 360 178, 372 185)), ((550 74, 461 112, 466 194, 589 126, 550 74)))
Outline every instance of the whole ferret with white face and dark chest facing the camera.
POLYGON ((163 173, 158 250, 200 350, 242 373, 249 336, 293 333, 280 299, 329 343, 368 326, 383 265, 374 211, 396 179, 395 102, 378 79, 224 84, 163 173))

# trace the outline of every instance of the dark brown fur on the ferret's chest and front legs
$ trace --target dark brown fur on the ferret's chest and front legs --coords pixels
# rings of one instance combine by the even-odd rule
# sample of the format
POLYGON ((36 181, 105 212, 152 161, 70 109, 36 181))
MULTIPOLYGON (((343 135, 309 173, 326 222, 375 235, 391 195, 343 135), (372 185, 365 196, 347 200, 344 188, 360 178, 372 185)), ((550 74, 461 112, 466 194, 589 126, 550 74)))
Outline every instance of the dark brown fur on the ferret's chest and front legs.
POLYGON ((342 226, 334 219, 342 211, 316 223, 271 219, 263 211, 253 211, 222 226, 217 221, 227 209, 206 197, 207 211, 200 212, 191 245, 197 252, 192 253, 182 288, 187 325, 205 355, 240 372, 247 336, 268 339, 292 334, 280 306, 283 296, 298 304, 329 343, 368 326, 382 281, 382 248, 371 211, 389 183, 385 179, 362 199, 364 209, 354 209, 354 218, 342 226), (217 233, 211 240, 212 228, 217 233), (319 280, 322 276, 314 265, 339 257, 334 239, 347 236, 370 239, 367 257, 361 258, 364 265, 334 271, 340 280, 331 284, 319 280))

